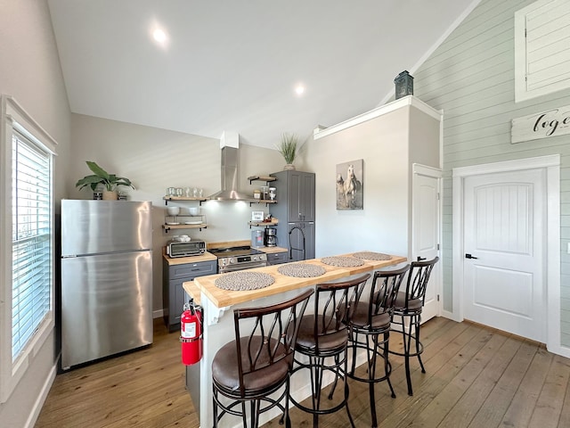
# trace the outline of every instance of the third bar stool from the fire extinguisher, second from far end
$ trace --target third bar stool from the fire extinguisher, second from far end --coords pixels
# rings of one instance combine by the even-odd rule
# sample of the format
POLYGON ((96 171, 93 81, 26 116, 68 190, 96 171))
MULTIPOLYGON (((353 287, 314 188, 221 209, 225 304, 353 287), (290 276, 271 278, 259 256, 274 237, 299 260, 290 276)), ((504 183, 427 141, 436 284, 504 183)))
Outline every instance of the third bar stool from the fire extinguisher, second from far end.
POLYGON ((387 381, 392 392, 392 398, 395 398, 394 388, 390 382, 392 366, 388 361, 390 323, 394 313, 395 298, 409 268, 410 265, 406 265, 395 270, 374 272, 369 300, 356 300, 352 318, 348 322, 348 347, 352 348, 353 356, 352 368, 347 375, 356 381, 369 384, 373 427, 378 426, 376 399, 374 397, 376 383, 387 381), (363 336, 362 340, 361 335, 363 336), (354 373, 357 350, 366 350, 368 374, 366 377, 354 373), (382 358, 384 361, 384 373, 378 376, 376 374, 377 358, 382 358))

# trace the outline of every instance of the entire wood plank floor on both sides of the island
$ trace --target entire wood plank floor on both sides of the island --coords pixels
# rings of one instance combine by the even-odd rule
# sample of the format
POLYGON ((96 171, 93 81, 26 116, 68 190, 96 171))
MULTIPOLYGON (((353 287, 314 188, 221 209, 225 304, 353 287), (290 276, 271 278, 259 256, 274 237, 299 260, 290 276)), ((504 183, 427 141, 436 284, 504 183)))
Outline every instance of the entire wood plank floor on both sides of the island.
MULTIPOLYGON (((397 397, 390 397, 385 383, 377 386, 380 427, 570 427, 570 359, 534 342, 444 318, 428 321, 421 333, 427 373, 412 362, 409 397, 403 359, 391 358, 397 397)), ((391 336, 396 348, 399 342, 391 336)), ((198 427, 179 358, 178 334, 168 334, 155 320, 151 348, 58 375, 36 427, 198 427)), ((371 426, 368 387, 351 381, 350 388, 354 423, 371 426)), ((291 420, 294 427, 312 426, 297 409, 291 420)), ((346 412, 322 416, 320 425, 345 428, 346 412)))

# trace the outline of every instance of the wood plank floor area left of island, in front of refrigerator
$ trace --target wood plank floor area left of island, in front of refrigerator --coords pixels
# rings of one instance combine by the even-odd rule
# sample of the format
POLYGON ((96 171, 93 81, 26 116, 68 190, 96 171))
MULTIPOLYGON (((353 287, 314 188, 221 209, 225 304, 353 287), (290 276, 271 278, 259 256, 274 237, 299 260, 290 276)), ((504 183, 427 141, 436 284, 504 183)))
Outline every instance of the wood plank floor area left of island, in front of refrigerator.
POLYGON ((178 340, 156 318, 151 347, 58 374, 36 427, 198 427, 178 340))

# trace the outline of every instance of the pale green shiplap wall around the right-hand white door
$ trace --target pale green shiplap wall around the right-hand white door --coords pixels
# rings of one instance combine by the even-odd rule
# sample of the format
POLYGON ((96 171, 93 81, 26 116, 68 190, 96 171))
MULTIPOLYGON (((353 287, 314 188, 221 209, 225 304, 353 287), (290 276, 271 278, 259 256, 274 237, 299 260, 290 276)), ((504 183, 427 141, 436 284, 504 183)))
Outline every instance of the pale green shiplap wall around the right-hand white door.
MULTIPOLYGON (((514 13, 532 0, 482 0, 415 70, 414 95, 444 110, 442 263, 452 310, 452 169, 561 155, 561 343, 570 346, 570 137, 510 144, 510 120, 568 105, 570 90, 515 103, 514 13)), ((557 310, 553 308, 552 310, 557 310)))

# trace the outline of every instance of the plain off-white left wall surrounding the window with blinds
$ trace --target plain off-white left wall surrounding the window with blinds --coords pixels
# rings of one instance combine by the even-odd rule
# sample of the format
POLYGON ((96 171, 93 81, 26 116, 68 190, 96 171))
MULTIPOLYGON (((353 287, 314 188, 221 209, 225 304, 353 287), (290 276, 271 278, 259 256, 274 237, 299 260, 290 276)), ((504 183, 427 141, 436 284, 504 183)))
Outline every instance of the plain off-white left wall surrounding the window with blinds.
MULTIPOLYGON (((12 95, 59 143, 54 161, 54 192, 59 201, 66 194, 70 114, 47 4, 0 0, 0 11, 0 93, 12 95)), ((43 388, 51 384, 55 354, 53 332, 30 358, 28 373, 10 399, 0 405, 0 425, 21 428, 34 423, 46 392, 43 388)))

